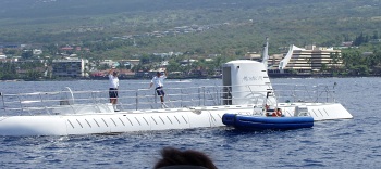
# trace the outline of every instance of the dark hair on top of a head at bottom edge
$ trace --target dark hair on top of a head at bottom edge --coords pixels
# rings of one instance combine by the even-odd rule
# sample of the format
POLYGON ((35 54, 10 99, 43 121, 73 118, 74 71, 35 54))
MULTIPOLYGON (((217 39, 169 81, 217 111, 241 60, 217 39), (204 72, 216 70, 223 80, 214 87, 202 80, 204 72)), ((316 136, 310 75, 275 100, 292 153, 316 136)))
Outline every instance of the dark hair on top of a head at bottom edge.
POLYGON ((161 150, 161 156, 162 159, 155 165, 155 169, 169 166, 217 169, 212 160, 206 154, 198 151, 180 151, 174 147, 164 147, 161 150))

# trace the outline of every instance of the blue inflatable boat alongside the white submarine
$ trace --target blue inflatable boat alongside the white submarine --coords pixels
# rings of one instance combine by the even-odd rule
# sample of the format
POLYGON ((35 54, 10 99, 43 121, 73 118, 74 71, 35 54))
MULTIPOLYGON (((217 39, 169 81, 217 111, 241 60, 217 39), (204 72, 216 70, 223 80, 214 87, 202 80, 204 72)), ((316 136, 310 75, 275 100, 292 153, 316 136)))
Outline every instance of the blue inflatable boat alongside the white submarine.
POLYGON ((266 117, 224 114, 222 116, 222 122, 239 130, 292 130, 311 128, 314 126, 314 118, 309 116, 266 117))

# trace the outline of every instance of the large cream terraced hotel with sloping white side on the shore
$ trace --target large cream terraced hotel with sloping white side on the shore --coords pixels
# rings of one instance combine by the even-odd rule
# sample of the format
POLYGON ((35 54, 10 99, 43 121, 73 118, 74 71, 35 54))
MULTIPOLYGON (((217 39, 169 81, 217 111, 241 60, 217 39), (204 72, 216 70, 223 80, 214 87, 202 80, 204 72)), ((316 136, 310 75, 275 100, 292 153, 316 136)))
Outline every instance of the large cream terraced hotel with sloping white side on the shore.
POLYGON ((308 74, 341 66, 343 66, 341 50, 316 46, 305 48, 291 46, 288 53, 280 61, 278 69, 280 73, 290 73, 293 69, 293 72, 308 74))

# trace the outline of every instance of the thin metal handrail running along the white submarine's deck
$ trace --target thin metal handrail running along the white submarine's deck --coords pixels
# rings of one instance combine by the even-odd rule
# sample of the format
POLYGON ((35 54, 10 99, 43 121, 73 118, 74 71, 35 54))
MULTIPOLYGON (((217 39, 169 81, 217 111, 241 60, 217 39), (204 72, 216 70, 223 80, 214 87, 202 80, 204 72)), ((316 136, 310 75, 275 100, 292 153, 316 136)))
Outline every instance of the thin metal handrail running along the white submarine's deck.
MULTIPOLYGON (((299 102, 307 99, 312 102, 319 102, 324 99, 329 102, 330 98, 334 100, 334 88, 318 84, 311 90, 305 86, 296 84, 280 84, 279 90, 273 89, 278 84, 265 86, 237 86, 238 91, 232 90, 232 86, 204 86, 189 88, 164 88, 165 103, 171 107, 189 107, 189 106, 213 106, 232 104, 232 100, 248 100, 251 104, 263 104, 262 93, 274 93, 276 104, 278 102, 292 101, 299 102), (302 89, 300 89, 302 88, 302 89), (263 91, 259 91, 259 89, 263 91), (266 89, 266 91, 265 91, 266 89), (245 94, 247 93, 247 94, 245 94), (275 94, 276 93, 276 94, 275 94), (297 93, 302 93, 297 95, 297 93), (243 95, 242 98, 236 95, 243 95), (319 100, 320 99, 320 100, 319 100)), ((233 88, 234 89, 234 88, 233 88)), ((46 109, 47 114, 52 114, 52 110, 58 107, 72 107, 72 112, 76 113, 73 105, 89 105, 100 109, 99 104, 109 103, 109 91, 72 91, 69 87, 59 92, 34 92, 20 94, 4 94, 0 92, 2 107, 4 112, 25 112, 34 115, 36 110, 46 109)), ((149 109, 161 108, 160 99, 151 89, 136 89, 136 90, 120 90, 119 106, 122 110, 126 109, 149 109)), ((40 114, 41 112, 39 112, 40 114)))

